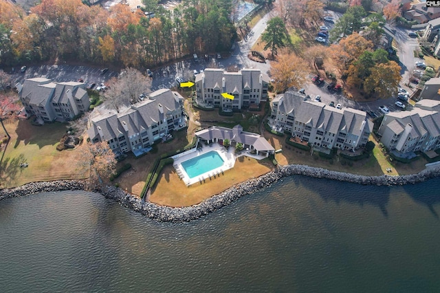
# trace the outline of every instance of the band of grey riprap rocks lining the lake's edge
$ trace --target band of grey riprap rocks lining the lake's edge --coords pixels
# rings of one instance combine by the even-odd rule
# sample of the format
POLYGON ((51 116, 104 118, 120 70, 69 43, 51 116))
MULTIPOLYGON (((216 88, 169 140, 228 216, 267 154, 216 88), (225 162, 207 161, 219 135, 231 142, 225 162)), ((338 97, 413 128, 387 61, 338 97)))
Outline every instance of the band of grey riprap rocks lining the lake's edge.
MULTIPOLYGON (((151 202, 142 202, 142 199, 122 191, 115 186, 104 186, 96 192, 101 193, 108 199, 113 199, 120 205, 142 213, 146 217, 155 219, 156 221, 170 221, 173 223, 181 223, 199 219, 204 215, 212 213, 223 206, 228 206, 240 197, 249 195, 261 188, 270 186, 274 182, 281 180, 283 177, 292 175, 304 175, 314 178, 325 178, 330 180, 338 180, 341 182, 351 182, 362 185, 377 186, 397 186, 405 184, 416 184, 424 182, 434 177, 439 177, 440 168, 425 169, 417 174, 403 176, 364 176, 354 175, 344 172, 330 171, 327 169, 315 168, 304 165, 288 165, 279 166, 275 171, 261 175, 258 178, 242 182, 231 186, 226 191, 214 195, 194 206, 172 208, 169 206, 159 206, 151 202)), ((16 188, 4 188, 0 190, 0 200, 11 197, 19 197, 32 195, 34 193, 67 191, 67 190, 87 190, 87 184, 80 180, 58 180, 51 182, 32 182, 16 188)))

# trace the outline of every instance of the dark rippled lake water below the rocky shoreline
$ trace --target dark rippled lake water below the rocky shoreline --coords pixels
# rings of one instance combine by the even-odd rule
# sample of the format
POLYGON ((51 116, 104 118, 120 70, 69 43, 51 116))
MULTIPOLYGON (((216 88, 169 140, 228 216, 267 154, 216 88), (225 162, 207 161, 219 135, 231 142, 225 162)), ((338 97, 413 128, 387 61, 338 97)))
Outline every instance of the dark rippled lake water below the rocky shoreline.
POLYGON ((189 224, 94 193, 6 199, 1 292, 439 292, 439 185, 294 176, 189 224))

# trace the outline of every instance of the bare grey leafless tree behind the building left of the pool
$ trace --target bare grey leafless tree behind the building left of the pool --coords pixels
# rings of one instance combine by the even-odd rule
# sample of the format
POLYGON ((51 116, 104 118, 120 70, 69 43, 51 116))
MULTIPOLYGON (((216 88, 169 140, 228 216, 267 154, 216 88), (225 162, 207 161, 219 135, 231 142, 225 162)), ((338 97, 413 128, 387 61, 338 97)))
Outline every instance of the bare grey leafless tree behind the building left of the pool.
POLYGON ((108 105, 120 111, 123 105, 136 102, 140 94, 150 92, 151 79, 134 68, 126 68, 118 78, 109 81, 109 89, 104 92, 108 105))

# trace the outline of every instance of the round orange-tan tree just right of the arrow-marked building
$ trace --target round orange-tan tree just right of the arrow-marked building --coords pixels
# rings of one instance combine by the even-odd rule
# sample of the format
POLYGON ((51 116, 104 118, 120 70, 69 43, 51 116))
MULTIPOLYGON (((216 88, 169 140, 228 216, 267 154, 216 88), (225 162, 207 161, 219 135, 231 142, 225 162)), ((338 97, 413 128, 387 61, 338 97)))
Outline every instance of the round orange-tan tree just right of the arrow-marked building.
POLYGON ((274 79, 274 89, 284 92, 289 87, 300 88, 307 80, 307 63, 292 53, 278 56, 278 61, 271 63, 270 74, 274 79))

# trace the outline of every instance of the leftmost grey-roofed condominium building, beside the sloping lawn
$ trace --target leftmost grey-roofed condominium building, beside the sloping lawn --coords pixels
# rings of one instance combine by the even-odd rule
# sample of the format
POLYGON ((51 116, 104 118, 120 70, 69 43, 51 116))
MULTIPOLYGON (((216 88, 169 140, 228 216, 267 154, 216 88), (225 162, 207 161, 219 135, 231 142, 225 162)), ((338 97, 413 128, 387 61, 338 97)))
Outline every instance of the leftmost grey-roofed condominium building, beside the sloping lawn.
POLYGON ((17 84, 20 100, 37 121, 69 121, 89 110, 85 83, 54 83, 47 78, 28 78, 17 84))

